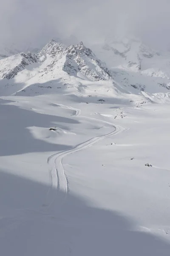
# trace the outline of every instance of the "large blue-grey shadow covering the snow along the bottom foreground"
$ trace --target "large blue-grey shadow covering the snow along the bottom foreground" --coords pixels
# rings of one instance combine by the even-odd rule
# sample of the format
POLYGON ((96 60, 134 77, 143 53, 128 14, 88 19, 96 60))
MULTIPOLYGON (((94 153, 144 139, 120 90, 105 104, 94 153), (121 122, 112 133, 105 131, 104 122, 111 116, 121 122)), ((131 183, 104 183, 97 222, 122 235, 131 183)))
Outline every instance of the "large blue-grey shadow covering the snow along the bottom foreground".
POLYGON ((169 256, 170 244, 118 212, 91 207, 82 198, 0 172, 0 250, 2 255, 169 256), (46 199, 45 199, 46 198, 46 199), (50 205, 48 208, 42 204, 50 205))

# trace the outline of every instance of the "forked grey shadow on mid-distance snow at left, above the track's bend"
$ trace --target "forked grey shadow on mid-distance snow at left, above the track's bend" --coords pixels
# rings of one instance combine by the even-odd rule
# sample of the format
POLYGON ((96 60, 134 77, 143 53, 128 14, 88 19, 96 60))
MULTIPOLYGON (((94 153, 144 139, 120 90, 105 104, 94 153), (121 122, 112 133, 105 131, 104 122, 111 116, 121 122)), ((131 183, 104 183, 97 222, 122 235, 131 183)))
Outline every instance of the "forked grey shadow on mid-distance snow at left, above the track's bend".
POLYGON ((69 123, 79 123, 77 120, 36 113, 2 102, 3 100, 0 100, 0 156, 62 151, 71 148, 69 145, 51 144, 35 139, 27 127, 37 126, 48 129, 56 125, 69 130, 69 123))

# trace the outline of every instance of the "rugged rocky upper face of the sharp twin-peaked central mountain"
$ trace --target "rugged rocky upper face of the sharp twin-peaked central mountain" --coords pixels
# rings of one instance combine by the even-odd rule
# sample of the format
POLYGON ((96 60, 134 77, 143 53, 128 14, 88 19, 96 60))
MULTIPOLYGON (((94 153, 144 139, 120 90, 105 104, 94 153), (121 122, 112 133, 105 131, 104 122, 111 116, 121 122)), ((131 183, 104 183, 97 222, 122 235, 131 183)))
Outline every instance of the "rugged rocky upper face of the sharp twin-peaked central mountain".
POLYGON ((81 73, 91 81, 112 79, 112 72, 82 42, 65 47, 52 40, 38 57, 40 62, 44 62, 46 72, 57 73, 62 70, 70 76, 79 76, 81 73))

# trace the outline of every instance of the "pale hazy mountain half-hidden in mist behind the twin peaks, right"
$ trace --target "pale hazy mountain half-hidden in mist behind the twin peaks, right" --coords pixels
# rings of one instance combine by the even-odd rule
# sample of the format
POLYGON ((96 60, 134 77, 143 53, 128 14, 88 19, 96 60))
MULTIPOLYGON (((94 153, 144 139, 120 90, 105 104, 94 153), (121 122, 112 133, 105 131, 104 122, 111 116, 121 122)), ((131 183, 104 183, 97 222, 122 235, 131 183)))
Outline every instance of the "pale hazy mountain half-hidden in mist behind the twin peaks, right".
POLYGON ((150 49, 136 38, 108 39, 92 49, 123 86, 130 85, 149 93, 170 89, 170 52, 150 49))

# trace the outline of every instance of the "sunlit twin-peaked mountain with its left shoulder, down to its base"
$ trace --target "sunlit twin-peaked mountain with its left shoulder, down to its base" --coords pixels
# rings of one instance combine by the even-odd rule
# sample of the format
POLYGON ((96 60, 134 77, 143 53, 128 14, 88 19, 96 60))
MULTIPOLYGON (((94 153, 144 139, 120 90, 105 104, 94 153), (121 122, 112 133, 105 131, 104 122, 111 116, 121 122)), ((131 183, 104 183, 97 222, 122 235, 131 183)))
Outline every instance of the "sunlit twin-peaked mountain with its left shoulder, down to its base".
POLYGON ((0 60, 0 79, 1 95, 71 93, 111 97, 117 93, 121 97, 115 91, 119 85, 114 82, 113 72, 82 42, 66 47, 51 40, 38 54, 4 58, 0 60))

